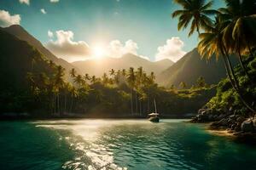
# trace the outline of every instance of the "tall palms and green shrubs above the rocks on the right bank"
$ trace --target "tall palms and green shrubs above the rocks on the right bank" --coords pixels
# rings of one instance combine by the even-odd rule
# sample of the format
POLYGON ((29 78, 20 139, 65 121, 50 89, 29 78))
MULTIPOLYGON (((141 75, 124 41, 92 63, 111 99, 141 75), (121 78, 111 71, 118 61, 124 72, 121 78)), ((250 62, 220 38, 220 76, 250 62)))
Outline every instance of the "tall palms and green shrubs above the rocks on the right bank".
MULTIPOLYGON (((179 17, 178 29, 187 27, 190 20, 193 19, 189 36, 196 28, 201 40, 198 44, 200 54, 208 59, 212 57, 212 54, 215 54, 217 59, 219 57, 224 59, 229 83, 234 91, 230 88, 220 90, 219 88, 225 87, 225 84, 228 83, 226 80, 220 82, 218 94, 211 100, 211 103, 215 103, 215 107, 218 102, 220 105, 242 104, 248 111, 255 113, 255 106, 253 105, 255 98, 252 96, 255 82, 252 79, 253 75, 249 74, 249 68, 242 59, 244 57, 241 56, 244 54, 253 58, 253 48, 256 44, 255 0, 225 0, 226 8, 219 8, 218 10, 209 9, 212 6, 212 1, 207 4, 204 0, 177 0, 176 2, 183 7, 183 10, 177 10, 172 14, 172 17, 179 17), (209 10, 206 11, 206 9, 209 10), (211 14, 214 14, 215 20, 207 17, 211 14), (204 32, 200 33, 200 30, 204 32), (236 71, 234 71, 230 61, 230 57, 234 57, 232 54, 237 54, 240 60, 240 66, 236 67, 236 71), (243 77, 240 71, 246 77, 243 77), (250 84, 249 88, 248 83, 250 84), (233 95, 232 98, 231 95, 233 95)), ((250 63, 249 65, 253 64, 250 63)), ((253 72, 253 70, 250 71, 253 72)))

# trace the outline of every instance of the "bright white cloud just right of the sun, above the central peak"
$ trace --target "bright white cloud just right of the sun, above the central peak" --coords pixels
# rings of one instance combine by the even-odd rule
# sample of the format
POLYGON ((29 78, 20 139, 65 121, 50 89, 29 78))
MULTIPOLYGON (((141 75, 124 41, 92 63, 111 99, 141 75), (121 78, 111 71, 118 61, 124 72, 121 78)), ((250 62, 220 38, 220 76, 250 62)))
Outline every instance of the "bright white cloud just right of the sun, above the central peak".
MULTIPOLYGON (((107 55, 109 57, 113 58, 120 58, 124 54, 137 54, 137 42, 134 42, 132 40, 128 40, 123 44, 119 40, 113 40, 112 42, 109 42, 108 49, 107 49, 107 55)), ((148 59, 148 57, 145 57, 143 55, 138 55, 139 57, 142 57, 143 59, 148 59)))

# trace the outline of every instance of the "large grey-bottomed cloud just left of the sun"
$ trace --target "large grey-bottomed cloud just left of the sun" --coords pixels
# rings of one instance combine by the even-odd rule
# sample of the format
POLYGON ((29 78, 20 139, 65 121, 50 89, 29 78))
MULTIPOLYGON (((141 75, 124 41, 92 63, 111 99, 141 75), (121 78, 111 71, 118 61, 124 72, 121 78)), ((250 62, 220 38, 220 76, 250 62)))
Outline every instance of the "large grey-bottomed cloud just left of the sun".
MULTIPOLYGON (((49 37, 54 35, 48 31, 49 37)), ((56 40, 50 40, 45 47, 53 54, 67 61, 85 59, 90 55, 90 48, 84 41, 73 42, 73 31, 55 31, 56 40)))

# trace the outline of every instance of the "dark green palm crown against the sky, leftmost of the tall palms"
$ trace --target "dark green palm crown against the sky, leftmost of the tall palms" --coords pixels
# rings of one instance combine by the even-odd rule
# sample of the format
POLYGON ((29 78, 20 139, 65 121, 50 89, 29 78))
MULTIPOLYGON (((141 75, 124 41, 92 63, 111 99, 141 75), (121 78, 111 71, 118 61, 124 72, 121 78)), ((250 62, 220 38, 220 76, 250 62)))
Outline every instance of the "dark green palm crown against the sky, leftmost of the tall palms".
POLYGON ((212 1, 206 3, 205 0, 174 0, 183 7, 181 10, 176 10, 172 13, 172 18, 178 17, 177 29, 185 29, 191 22, 189 37, 197 31, 200 35, 200 29, 212 26, 212 20, 209 15, 216 14, 212 7, 212 1))

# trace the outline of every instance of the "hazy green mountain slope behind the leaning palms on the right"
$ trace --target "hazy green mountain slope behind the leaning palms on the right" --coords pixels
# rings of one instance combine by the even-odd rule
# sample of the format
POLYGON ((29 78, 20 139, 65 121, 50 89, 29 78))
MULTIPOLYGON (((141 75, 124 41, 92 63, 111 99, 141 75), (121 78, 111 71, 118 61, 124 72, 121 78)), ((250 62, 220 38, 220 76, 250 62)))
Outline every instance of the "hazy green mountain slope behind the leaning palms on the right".
MULTIPOLYGON (((236 63, 235 57, 232 57, 232 62, 236 63)), ((217 61, 214 56, 210 60, 201 59, 201 55, 195 48, 162 71, 157 77, 157 82, 166 87, 172 84, 178 87, 180 82, 186 82, 187 85, 192 86, 198 77, 204 77, 208 84, 218 83, 226 77, 223 60, 217 61)))

